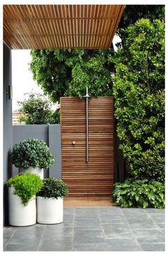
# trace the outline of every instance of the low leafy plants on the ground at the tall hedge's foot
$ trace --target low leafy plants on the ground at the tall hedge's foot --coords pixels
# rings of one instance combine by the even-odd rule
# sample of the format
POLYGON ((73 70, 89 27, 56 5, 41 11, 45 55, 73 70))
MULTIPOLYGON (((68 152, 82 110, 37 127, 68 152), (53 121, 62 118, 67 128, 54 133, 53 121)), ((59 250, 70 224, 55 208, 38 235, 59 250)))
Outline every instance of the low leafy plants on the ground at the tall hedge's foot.
POLYGON ((113 194, 115 205, 121 207, 165 207, 164 184, 147 179, 132 181, 126 179, 125 183, 115 183, 113 194))

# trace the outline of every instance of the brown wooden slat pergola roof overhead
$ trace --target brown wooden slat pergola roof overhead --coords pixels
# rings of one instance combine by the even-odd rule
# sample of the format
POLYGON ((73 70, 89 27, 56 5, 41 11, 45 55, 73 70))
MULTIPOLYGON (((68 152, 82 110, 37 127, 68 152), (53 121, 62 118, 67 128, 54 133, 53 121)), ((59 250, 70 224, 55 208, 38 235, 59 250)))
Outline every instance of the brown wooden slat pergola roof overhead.
POLYGON ((10 49, 108 49, 123 5, 4 5, 10 49))

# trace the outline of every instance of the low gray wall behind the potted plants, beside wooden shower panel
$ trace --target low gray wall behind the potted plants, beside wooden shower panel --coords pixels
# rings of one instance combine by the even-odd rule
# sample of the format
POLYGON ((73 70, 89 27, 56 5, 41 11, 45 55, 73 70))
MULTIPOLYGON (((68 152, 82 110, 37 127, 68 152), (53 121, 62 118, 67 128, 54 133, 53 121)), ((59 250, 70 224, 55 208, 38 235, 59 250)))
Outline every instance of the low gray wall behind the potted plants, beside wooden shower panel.
MULTIPOLYGON (((13 145, 28 138, 42 139, 55 155, 56 161, 49 170, 45 170, 44 177, 61 179, 61 125, 13 125, 13 145)), ((18 168, 13 165, 12 169, 13 174, 18 174, 18 168)))

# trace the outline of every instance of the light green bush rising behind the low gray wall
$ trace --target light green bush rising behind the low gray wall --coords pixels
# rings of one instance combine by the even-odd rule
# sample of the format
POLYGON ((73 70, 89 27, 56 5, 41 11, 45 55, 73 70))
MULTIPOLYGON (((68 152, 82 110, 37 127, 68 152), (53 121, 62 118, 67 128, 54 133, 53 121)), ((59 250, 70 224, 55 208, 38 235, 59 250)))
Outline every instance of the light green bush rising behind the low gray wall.
MULTIPOLYGON (((26 95, 26 94, 25 94, 26 95)), ((19 102, 23 112, 19 122, 25 124, 58 124, 60 122, 60 110, 51 110, 51 102, 43 94, 29 93, 28 98, 19 102)))

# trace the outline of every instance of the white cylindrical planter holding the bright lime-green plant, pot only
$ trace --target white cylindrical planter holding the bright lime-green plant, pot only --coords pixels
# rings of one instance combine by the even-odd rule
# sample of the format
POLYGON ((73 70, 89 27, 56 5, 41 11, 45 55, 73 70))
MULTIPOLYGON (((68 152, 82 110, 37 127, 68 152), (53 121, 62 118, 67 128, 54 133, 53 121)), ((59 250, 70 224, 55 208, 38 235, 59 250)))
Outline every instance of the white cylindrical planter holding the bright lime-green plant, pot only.
POLYGON ((9 225, 29 226, 36 224, 36 198, 23 205, 21 198, 14 195, 14 187, 9 187, 9 225))

